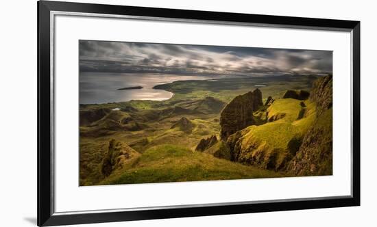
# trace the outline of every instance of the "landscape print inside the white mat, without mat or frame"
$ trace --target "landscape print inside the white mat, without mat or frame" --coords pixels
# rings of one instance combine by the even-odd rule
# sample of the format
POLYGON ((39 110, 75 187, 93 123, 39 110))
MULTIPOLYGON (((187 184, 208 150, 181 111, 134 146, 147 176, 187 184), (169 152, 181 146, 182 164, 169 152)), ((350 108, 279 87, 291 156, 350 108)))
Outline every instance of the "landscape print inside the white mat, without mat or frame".
POLYGON ((81 186, 332 175, 332 51, 79 51, 81 186))

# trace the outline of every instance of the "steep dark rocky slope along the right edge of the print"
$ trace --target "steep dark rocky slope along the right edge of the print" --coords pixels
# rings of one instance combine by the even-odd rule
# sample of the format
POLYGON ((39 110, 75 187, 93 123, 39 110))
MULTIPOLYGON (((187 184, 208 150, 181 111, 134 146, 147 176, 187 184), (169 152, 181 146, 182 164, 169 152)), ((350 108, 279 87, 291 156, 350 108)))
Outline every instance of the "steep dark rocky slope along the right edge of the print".
POLYGON ((311 101, 317 103, 317 118, 302 139, 287 170, 297 176, 332 174, 332 76, 314 83, 311 101))

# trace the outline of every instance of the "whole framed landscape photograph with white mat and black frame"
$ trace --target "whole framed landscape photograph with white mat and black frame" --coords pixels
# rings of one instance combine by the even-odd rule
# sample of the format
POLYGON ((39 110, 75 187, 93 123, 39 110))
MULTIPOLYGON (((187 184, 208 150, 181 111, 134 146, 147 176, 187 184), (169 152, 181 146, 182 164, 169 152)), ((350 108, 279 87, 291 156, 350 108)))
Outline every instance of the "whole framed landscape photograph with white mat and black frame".
POLYGON ((360 204, 360 22, 38 2, 38 225, 360 204))

